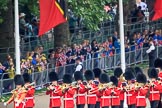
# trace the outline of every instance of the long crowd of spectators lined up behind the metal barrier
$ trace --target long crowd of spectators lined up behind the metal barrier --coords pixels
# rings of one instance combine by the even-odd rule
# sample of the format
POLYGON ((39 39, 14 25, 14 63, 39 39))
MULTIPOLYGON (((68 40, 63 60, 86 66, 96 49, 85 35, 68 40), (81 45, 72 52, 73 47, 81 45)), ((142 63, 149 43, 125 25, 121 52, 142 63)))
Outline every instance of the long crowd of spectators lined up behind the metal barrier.
MULTIPOLYGON (((144 30, 143 33, 136 32, 132 34, 132 38, 125 36, 125 52, 134 51, 142 47, 149 47, 148 38, 152 37, 154 44, 162 45, 162 35, 159 30, 154 32, 144 30)), ((129 36, 130 37, 130 36, 129 36)), ((98 43, 93 40, 84 40, 82 44, 73 44, 71 47, 63 45, 55 50, 50 49, 49 54, 43 53, 43 46, 36 47, 35 51, 27 52, 25 56, 21 56, 21 72, 42 72, 47 69, 47 64, 50 63, 54 67, 75 64, 76 58, 80 57, 82 62, 92 58, 102 58, 113 56, 120 53, 120 39, 115 31, 114 35, 108 37, 103 43, 98 43)), ((0 64, 0 73, 8 72, 9 78, 13 78, 15 74, 14 60, 10 55, 7 55, 6 61, 0 64)), ((57 70, 55 70, 57 71, 57 70)), ((72 70, 71 70, 72 71, 72 70)))

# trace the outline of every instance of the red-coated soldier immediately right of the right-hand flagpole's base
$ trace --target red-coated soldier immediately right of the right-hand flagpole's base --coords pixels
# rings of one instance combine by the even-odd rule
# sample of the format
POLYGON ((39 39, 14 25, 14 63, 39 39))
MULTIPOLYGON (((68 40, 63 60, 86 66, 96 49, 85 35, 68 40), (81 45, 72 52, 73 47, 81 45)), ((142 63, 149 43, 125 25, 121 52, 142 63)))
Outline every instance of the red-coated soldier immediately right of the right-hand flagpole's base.
POLYGON ((136 108, 135 76, 131 68, 127 68, 124 73, 127 85, 124 87, 127 94, 128 108, 136 108))

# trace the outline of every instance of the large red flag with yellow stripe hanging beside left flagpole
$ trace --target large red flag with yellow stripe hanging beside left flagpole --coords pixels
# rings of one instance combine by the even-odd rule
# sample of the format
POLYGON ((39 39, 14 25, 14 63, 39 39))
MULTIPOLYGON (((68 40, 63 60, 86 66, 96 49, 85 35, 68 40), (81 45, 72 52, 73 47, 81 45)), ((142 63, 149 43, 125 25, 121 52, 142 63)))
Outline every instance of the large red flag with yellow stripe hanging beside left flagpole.
POLYGON ((56 0, 40 0, 39 36, 53 27, 66 22, 64 11, 56 0))

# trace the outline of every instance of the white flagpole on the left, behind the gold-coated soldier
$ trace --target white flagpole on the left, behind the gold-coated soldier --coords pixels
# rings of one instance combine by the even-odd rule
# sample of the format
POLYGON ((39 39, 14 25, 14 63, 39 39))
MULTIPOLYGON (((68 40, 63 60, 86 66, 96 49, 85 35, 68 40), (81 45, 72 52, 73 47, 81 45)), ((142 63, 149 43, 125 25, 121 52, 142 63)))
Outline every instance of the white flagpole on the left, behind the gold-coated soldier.
POLYGON ((16 74, 21 74, 21 71, 20 71, 20 35, 19 35, 18 0, 15 0, 15 58, 16 58, 16 74))

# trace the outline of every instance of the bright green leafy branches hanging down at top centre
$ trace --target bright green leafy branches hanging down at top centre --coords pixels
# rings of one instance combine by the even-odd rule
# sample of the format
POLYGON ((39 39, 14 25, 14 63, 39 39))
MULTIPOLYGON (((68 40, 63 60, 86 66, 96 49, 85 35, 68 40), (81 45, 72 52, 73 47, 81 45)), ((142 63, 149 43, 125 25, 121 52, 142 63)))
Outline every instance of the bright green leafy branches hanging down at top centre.
POLYGON ((109 2, 111 0, 68 0, 68 6, 75 16, 83 18, 89 29, 98 30, 98 24, 109 17, 104 10, 109 2))

